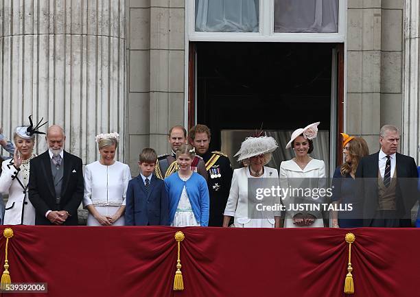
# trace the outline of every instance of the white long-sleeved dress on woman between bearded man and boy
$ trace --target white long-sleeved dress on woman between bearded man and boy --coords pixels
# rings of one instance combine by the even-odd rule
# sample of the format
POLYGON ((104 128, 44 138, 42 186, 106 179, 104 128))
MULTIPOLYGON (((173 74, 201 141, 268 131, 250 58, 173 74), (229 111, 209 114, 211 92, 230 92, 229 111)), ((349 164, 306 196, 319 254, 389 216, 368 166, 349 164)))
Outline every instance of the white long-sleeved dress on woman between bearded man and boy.
MULTIPOLYGON (((114 215, 121 205, 126 205, 130 179, 130 167, 118 161, 109 166, 102 165, 99 161, 86 165, 83 207, 93 205, 101 215, 114 215)), ((89 213, 87 226, 101 226, 101 224, 89 213)), ((124 215, 121 215, 113 226, 124 226, 124 215)))

